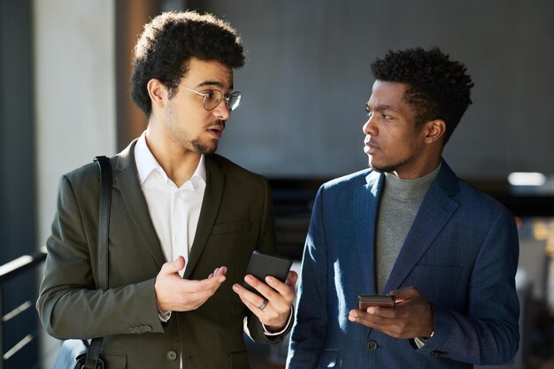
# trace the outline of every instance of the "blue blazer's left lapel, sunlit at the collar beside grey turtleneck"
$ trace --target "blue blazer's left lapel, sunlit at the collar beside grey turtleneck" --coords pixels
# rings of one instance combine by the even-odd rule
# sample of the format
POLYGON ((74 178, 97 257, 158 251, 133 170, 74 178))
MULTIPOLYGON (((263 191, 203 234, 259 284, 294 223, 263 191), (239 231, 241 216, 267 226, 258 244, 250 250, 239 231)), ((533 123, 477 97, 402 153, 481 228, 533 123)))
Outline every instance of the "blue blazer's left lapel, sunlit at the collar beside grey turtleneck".
POLYGON ((353 265, 363 265, 360 280, 364 281, 363 290, 373 294, 376 292, 375 273, 373 273, 375 270, 374 235, 383 178, 381 173, 372 171, 365 176, 366 184, 363 190, 357 191, 354 195, 354 204, 358 206, 358 214, 354 216, 359 222, 356 227, 353 227, 358 233, 358 242, 354 242, 354 245, 359 247, 355 250, 353 265))

